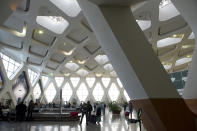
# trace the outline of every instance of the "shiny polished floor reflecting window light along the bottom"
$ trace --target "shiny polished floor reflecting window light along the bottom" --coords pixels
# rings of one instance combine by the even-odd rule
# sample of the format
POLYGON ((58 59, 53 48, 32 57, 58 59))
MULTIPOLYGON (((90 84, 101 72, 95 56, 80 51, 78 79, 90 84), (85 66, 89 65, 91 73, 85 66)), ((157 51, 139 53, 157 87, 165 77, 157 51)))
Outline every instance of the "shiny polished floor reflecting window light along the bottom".
MULTIPOLYGON (((140 131, 140 129, 138 124, 128 124, 123 113, 118 116, 107 111, 100 125, 86 125, 85 119, 82 125, 79 125, 79 122, 0 122, 0 131, 140 131)), ((145 131, 143 127, 142 131, 145 131)))

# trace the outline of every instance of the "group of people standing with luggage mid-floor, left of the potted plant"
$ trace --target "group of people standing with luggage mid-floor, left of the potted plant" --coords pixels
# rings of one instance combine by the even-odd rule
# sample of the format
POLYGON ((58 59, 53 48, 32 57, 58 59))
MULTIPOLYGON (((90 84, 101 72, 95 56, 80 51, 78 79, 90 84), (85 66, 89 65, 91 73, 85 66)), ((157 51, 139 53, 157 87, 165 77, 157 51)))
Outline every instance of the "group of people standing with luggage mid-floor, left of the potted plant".
POLYGON ((86 116, 86 124, 88 125, 88 123, 96 123, 99 124, 101 121, 101 110, 103 111, 103 114, 105 114, 105 108, 106 108, 106 104, 104 103, 95 103, 94 104, 94 110, 92 108, 92 105, 90 103, 90 101, 88 101, 87 103, 81 103, 80 105, 80 109, 81 109, 81 120, 80 120, 80 125, 82 124, 84 115, 86 116))

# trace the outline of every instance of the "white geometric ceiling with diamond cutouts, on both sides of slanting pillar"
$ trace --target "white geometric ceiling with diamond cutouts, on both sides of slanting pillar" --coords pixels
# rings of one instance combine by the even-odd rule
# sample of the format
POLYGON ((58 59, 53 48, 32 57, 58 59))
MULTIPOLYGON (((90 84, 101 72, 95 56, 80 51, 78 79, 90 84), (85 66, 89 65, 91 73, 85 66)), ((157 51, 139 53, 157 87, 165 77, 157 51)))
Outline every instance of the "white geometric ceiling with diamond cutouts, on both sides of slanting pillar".
MULTIPOLYGON (((166 71, 187 69, 194 35, 171 1, 149 0, 131 11, 166 71)), ((24 0, 0 27, 0 45, 42 74, 116 77, 76 0, 24 0)))

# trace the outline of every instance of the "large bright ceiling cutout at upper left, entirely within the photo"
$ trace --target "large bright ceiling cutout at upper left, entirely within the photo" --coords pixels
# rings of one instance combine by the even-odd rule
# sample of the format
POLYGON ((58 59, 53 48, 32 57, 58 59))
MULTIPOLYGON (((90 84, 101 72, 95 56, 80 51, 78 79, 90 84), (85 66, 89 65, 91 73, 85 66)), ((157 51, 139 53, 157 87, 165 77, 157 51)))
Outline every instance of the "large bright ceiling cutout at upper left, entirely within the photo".
POLYGON ((61 16, 37 16, 36 22, 56 34, 62 34, 69 26, 61 16))

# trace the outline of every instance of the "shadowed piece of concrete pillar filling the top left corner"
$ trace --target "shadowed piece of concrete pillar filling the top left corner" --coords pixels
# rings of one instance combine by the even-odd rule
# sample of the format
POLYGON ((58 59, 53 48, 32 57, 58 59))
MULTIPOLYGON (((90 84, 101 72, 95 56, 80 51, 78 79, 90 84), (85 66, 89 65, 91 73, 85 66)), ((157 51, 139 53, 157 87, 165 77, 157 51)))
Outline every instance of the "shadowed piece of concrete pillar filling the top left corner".
POLYGON ((0 4, 0 26, 7 20, 13 11, 23 0, 1 0, 0 4))

